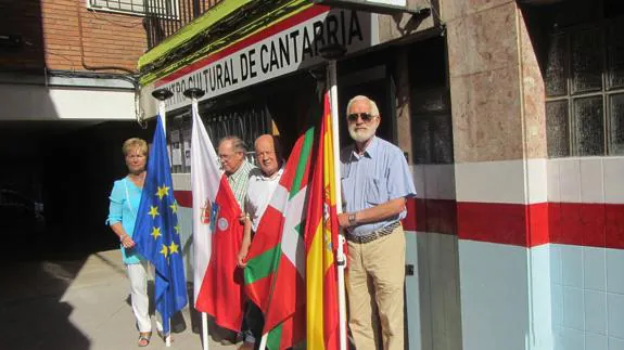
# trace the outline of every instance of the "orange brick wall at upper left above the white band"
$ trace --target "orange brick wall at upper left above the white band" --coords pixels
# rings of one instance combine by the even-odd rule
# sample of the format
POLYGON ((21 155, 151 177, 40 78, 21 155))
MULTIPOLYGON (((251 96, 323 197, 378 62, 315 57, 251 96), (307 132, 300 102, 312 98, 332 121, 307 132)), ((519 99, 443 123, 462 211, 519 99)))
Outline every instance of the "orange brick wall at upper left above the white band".
MULTIPOLYGON (((87 1, 0 0, 0 35, 18 35, 26 42, 0 47, 0 69, 114 66, 136 70, 138 59, 148 49, 144 17, 87 10, 87 1)), ((204 9, 221 1, 204 0, 204 9)))

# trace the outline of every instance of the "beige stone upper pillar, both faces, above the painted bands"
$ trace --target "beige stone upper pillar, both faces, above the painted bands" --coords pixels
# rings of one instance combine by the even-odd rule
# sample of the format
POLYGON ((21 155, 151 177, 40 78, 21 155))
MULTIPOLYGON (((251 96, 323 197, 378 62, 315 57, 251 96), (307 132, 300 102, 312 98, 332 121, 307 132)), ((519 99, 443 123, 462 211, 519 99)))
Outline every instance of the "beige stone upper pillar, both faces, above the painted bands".
POLYGON ((546 156, 544 81, 515 1, 444 1, 455 159, 546 156))

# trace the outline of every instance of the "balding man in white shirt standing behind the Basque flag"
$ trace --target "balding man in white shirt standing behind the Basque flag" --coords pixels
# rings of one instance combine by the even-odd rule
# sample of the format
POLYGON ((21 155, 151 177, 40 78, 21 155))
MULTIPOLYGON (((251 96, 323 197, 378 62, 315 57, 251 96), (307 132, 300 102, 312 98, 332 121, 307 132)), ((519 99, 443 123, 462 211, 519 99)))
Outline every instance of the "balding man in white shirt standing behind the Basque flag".
MULTIPOLYGON (((245 223, 243 244, 239 252, 239 267, 245 267, 253 233, 256 232, 260 218, 265 212, 271 196, 279 185, 283 172, 279 141, 270 134, 264 134, 255 142, 256 161, 259 168, 250 172, 247 195, 245 196, 245 223)), ((263 330, 262 311, 253 302, 249 302, 245 312, 245 323, 250 330, 243 330, 244 343, 240 350, 252 350, 257 337, 263 330)))

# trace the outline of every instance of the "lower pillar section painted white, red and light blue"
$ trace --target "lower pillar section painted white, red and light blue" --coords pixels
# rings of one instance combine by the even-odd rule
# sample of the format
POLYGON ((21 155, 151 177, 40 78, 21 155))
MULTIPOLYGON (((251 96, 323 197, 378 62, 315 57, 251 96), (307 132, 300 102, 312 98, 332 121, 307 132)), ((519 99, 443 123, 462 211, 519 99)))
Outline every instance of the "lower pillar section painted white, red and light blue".
POLYGON ((549 249, 527 249, 548 241, 546 160, 456 164, 455 178, 462 349, 551 349, 549 249))

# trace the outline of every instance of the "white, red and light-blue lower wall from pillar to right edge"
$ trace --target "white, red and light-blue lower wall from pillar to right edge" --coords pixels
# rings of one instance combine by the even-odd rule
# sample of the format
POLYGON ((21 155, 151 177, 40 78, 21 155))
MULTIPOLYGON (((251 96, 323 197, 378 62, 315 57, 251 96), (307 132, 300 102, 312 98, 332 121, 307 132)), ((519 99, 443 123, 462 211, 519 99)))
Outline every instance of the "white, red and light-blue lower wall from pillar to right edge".
POLYGON ((616 268, 604 256, 624 248, 623 157, 484 161, 455 170, 463 349, 552 349, 591 341, 591 332, 624 334, 606 311, 624 295, 589 290, 591 277, 573 272, 609 275, 616 268), (570 285, 558 284, 566 271, 570 285), (587 300, 612 301, 600 309, 587 300), (613 329, 587 326, 594 319, 613 329))

